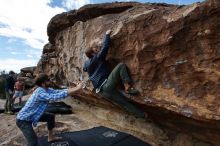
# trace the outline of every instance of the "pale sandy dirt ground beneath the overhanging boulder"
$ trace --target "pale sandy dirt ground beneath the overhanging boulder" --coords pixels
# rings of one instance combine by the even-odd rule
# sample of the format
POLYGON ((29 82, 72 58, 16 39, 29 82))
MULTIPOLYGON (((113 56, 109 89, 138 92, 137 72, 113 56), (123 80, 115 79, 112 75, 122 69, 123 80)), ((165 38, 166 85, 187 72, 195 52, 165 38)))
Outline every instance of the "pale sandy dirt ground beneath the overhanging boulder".
MULTIPOLYGON (((3 108, 4 106, 4 100, 0 99, 0 108, 3 108)), ((123 132, 127 132, 130 134, 135 135, 138 138, 141 138, 142 140, 146 140, 149 138, 146 138, 146 135, 143 135, 140 131, 135 131, 136 127, 143 128, 143 125, 140 124, 140 121, 136 123, 136 119, 133 119, 132 117, 130 120, 130 125, 124 125, 124 122, 121 122, 122 127, 133 127, 126 129, 122 128, 120 123, 117 123, 118 125, 114 125, 114 121, 109 121, 104 118, 105 116, 111 116, 112 114, 109 114, 108 111, 102 110, 102 109, 94 109, 93 107, 88 107, 87 105, 84 105, 83 103, 77 103, 74 105, 72 100, 65 101, 69 105, 73 105, 73 112, 74 114, 70 115, 56 115, 56 127, 54 129, 55 133, 65 132, 65 131, 79 131, 84 129, 89 129, 92 127, 97 126, 106 126, 115 130, 120 130, 123 132), (96 112, 98 112, 98 114, 96 112)), ((75 102, 76 103, 76 102, 75 102)), ((123 113, 124 114, 124 113, 123 113)), ((120 121, 127 121, 127 118, 122 119, 121 116, 118 116, 120 118, 120 121)), ((20 132, 20 130, 17 128, 15 124, 16 114, 15 115, 6 115, 4 113, 0 114, 0 146, 25 146, 26 141, 20 132)), ((117 119, 116 119, 117 120, 117 119)), ((143 121, 145 122, 145 121, 143 121)), ((128 122, 126 122, 128 123, 128 122)), ((145 127, 144 129, 149 129, 149 127, 145 127)), ((150 139, 155 139, 155 134, 152 133, 152 128, 150 129, 150 139)), ((159 129, 153 129, 154 131, 158 131, 161 133, 159 129)), ((46 123, 38 123, 37 128, 35 128, 35 131, 38 136, 45 136, 47 135, 46 130, 46 123)), ((161 137, 164 139, 165 137, 161 137)), ((149 141, 148 141, 149 142, 149 141)), ((153 146, 155 145, 152 141, 151 143, 153 146)), ((157 145, 157 144, 156 144, 157 145)))

